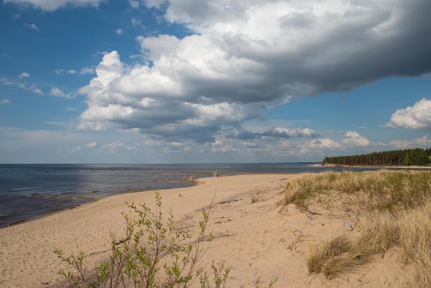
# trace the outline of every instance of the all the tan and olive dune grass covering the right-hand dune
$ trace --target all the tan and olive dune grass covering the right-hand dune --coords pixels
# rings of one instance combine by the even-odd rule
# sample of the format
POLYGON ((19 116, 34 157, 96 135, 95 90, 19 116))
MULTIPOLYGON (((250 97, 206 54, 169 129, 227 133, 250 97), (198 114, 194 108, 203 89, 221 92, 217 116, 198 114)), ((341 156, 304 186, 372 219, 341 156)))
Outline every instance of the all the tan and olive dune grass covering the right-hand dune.
POLYGON ((330 195, 355 196, 361 200, 365 216, 358 225, 360 236, 355 239, 333 236, 309 247, 306 264, 310 273, 334 278, 397 247, 404 263, 415 268, 414 285, 431 287, 430 171, 304 174, 289 182, 284 193, 285 205, 295 203, 306 211, 322 195, 329 195, 326 201, 334 200, 330 195))

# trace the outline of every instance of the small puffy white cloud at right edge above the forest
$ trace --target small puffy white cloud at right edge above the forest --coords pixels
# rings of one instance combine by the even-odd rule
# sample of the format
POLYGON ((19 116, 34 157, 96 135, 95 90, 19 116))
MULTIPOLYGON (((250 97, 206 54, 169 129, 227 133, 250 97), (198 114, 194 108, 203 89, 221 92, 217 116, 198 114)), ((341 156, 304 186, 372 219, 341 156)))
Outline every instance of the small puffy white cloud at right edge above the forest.
POLYGON ((397 110, 386 127, 401 127, 410 130, 431 130, 431 100, 423 98, 412 107, 397 110))

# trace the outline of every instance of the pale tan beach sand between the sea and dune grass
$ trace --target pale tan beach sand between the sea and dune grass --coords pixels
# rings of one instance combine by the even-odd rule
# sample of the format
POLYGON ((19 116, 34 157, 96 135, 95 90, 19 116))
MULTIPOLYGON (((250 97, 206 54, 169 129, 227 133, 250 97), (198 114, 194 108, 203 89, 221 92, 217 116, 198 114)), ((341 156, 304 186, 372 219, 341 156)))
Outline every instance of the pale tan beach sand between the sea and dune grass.
MULTIPOLYGON (((304 253, 308 245, 328 234, 346 232, 344 221, 357 218, 310 215, 294 205, 280 206, 281 192, 293 174, 253 174, 202 178, 199 185, 160 192, 162 207, 173 210, 179 227, 198 231, 202 209, 214 197, 208 229, 213 240, 202 258, 231 268, 227 287, 401 287, 406 271, 397 254, 377 259, 354 274, 333 280, 308 274, 304 253), (181 196, 180 196, 181 195, 181 196), (253 199, 253 200, 252 200, 253 199)), ((105 258, 111 232, 122 235, 128 203, 154 207, 154 193, 123 194, 0 229, 0 287, 67 287, 56 272, 67 268, 54 254, 86 251, 88 267, 105 258)))

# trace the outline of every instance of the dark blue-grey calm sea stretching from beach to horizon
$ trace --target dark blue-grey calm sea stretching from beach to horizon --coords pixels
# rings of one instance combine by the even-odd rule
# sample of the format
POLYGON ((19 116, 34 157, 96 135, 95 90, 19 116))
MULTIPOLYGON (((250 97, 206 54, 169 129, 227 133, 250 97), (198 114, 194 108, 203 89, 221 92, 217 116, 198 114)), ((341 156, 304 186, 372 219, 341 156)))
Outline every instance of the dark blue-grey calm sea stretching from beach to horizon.
POLYGON ((191 176, 346 169, 313 164, 0 165, 0 228, 116 194, 189 187, 191 176))

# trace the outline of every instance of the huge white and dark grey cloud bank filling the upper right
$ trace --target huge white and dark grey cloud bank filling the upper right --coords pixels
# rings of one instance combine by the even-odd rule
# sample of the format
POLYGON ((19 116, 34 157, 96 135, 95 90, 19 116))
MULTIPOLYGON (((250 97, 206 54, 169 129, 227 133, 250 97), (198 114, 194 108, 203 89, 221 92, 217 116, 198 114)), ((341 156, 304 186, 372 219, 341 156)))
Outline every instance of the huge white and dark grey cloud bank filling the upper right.
MULTIPOLYGON (((427 0, 129 3, 160 9, 165 21, 193 33, 137 37, 144 61, 134 66, 116 51, 105 54, 80 90, 88 105, 82 129, 214 142, 222 127, 264 119, 267 109, 296 97, 431 71, 427 0)), ((238 137, 317 136, 280 129, 238 137)), ((367 145, 354 134, 346 143, 367 145)))

